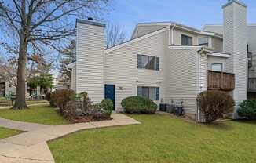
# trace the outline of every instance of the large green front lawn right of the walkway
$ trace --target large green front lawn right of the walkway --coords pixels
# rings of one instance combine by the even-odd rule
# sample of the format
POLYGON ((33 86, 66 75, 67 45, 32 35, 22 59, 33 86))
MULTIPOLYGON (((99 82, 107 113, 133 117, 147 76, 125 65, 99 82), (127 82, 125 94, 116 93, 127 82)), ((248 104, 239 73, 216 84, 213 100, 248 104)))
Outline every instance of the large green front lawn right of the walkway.
POLYGON ((197 125, 168 115, 133 115, 141 125, 76 132, 49 143, 57 163, 254 162, 256 123, 197 125))

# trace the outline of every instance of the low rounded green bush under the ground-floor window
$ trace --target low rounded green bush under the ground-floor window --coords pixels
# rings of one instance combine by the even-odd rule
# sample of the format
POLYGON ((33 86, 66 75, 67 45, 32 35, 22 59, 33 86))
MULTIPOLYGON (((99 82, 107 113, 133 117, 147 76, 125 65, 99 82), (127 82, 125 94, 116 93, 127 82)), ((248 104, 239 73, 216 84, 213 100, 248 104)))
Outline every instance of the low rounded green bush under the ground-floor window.
POLYGON ((154 114, 157 105, 150 99, 141 96, 131 96, 122 100, 123 109, 129 114, 154 114))

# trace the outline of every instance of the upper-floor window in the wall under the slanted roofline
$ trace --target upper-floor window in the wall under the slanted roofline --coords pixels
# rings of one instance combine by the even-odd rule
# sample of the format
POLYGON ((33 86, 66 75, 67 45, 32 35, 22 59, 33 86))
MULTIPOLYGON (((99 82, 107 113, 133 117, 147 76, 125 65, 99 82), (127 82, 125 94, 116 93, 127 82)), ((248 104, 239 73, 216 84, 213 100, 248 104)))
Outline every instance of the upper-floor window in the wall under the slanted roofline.
POLYGON ((159 57, 137 55, 137 68, 159 71, 159 57))

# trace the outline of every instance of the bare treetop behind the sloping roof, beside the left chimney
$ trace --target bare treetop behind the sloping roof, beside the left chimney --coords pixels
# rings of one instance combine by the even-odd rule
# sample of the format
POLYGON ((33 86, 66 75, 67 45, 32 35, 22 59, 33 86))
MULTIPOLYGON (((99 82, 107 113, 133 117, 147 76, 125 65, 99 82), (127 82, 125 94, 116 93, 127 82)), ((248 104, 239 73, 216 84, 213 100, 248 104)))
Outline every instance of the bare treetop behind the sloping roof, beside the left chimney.
POLYGON ((126 41, 126 33, 118 25, 110 24, 106 32, 106 48, 109 49, 126 41))

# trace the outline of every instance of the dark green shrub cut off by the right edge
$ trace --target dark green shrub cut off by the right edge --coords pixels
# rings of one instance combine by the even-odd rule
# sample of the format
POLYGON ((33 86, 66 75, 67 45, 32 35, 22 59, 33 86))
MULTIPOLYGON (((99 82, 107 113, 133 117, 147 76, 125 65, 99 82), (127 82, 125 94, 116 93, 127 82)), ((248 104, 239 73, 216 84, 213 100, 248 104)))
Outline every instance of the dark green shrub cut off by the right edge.
POLYGON ((243 103, 240 103, 237 113, 240 117, 245 117, 250 120, 256 119, 256 101, 244 100, 243 103))

